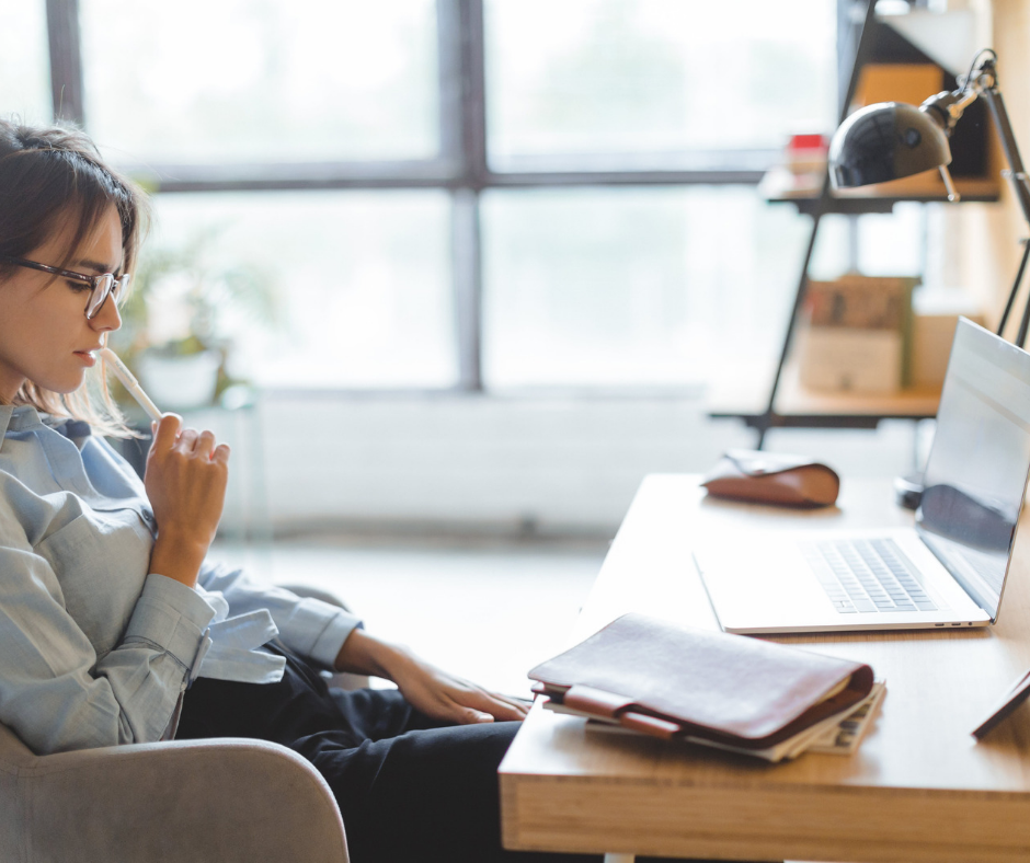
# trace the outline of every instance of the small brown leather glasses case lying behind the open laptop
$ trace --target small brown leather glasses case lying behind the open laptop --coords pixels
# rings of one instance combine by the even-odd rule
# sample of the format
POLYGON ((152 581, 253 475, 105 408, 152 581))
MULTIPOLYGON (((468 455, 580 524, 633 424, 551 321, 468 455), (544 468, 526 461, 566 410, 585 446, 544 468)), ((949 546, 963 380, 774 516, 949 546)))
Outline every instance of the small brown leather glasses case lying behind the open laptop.
POLYGON ((717 497, 816 507, 836 502, 840 477, 803 456, 737 449, 726 452, 701 485, 717 497))

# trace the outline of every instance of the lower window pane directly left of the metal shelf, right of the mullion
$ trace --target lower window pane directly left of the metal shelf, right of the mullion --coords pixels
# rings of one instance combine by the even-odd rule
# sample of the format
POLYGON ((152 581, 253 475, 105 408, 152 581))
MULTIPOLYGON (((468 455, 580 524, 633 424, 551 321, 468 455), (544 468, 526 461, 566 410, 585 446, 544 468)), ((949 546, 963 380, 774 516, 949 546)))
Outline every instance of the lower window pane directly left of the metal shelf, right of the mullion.
POLYGON ((673 387, 782 340, 804 225, 742 186, 500 191, 483 208, 488 387, 673 387))

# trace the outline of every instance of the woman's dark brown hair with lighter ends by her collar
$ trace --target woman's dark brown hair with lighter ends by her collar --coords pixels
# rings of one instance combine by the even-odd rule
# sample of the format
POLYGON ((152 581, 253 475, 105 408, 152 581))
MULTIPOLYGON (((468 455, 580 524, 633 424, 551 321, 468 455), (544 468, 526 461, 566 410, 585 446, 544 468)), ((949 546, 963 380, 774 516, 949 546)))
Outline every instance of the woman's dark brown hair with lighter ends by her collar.
MULTIPOLYGON (((149 223, 142 191, 104 164, 95 145, 73 126, 28 126, 0 119, 0 258, 27 257, 57 231, 71 226, 64 260, 45 262, 67 268, 76 249, 111 205, 122 222, 122 268, 133 272, 149 223)), ((0 284, 13 268, 0 260, 0 284)), ((61 396, 32 381, 19 390, 15 403, 85 419, 105 431, 124 428, 103 378, 101 390, 104 404, 100 411, 90 403, 84 387, 61 396)))

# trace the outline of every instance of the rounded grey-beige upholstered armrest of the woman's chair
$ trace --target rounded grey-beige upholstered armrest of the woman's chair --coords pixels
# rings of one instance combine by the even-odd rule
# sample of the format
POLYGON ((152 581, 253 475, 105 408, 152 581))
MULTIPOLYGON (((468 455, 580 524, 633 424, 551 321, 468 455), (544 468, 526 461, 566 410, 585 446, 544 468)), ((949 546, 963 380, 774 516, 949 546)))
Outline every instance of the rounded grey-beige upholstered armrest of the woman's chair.
POLYGON ((34 761, 18 769, 11 807, 31 844, 26 860, 347 861, 332 792, 278 744, 180 740, 34 761))

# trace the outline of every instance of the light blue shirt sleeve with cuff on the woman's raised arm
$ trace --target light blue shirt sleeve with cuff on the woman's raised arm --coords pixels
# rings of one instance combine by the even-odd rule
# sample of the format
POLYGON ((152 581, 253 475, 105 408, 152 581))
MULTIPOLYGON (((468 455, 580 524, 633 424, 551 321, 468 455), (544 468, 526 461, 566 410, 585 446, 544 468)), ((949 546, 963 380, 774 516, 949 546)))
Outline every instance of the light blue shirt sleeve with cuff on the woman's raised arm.
POLYGON ((37 755, 161 739, 210 607, 151 575, 123 640, 98 660, 50 565, 2 530, 9 515, 0 511, 0 722, 37 755))

